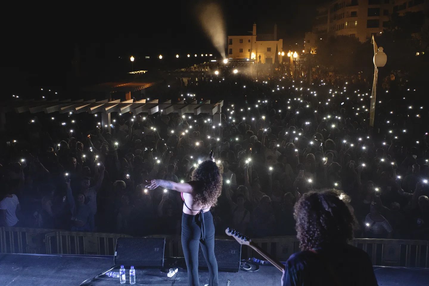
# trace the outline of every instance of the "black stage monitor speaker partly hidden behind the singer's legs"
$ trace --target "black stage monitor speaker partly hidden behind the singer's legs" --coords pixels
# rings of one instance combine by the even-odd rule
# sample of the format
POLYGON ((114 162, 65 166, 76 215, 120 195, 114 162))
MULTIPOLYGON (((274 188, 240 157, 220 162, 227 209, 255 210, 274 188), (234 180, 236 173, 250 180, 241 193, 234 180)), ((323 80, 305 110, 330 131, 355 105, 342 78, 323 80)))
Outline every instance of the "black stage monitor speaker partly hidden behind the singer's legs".
MULTIPOLYGON (((238 272, 240 270, 241 244, 236 240, 215 239, 215 256, 219 271, 238 272)), ((201 246, 198 250, 198 267, 207 269, 201 246)))

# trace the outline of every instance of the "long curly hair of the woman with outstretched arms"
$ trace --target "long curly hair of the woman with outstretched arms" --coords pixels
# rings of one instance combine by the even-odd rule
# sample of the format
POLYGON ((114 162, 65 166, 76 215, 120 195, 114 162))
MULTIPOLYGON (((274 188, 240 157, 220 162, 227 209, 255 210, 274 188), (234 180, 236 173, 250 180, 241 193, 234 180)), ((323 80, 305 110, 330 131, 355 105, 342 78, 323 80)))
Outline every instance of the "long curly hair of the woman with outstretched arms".
POLYGON ((201 206, 215 206, 222 192, 222 176, 218 165, 206 160, 193 170, 191 180, 201 184, 196 190, 194 201, 201 206))

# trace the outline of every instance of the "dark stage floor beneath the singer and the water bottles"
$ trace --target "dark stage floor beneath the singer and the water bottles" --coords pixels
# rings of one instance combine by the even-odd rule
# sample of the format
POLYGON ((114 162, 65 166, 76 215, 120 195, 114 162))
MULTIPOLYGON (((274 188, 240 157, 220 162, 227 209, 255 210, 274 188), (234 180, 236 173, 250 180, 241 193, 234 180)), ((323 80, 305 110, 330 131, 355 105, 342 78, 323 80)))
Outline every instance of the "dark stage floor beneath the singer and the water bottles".
MULTIPOLYGON (((51 256, 35 254, 1 254, 0 285, 19 286, 77 286, 85 280, 113 267, 113 256, 51 256)), ((427 286, 429 269, 374 267, 380 286, 427 286)), ((118 270, 115 270, 118 271, 118 270)), ((127 284, 129 284, 127 269, 127 284)), ((136 285, 168 286, 172 281, 157 269, 136 269, 136 285)), ((271 266, 260 266, 256 272, 219 272, 219 285, 279 286, 281 272, 271 266)), ((208 272, 199 271, 200 285, 208 283, 208 272)), ((118 285, 119 281, 105 275, 85 285, 118 285)), ((175 286, 187 286, 186 270, 180 270, 175 286)))

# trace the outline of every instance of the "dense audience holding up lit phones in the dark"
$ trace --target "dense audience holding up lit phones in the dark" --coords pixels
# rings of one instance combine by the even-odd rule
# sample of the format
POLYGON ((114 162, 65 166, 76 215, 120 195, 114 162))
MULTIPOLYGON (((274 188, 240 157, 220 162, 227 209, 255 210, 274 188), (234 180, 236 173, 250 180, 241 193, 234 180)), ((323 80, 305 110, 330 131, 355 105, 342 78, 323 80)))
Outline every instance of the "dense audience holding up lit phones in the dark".
POLYGON ((0 225, 180 234, 180 194, 145 189, 145 181, 187 181, 213 150, 224 178, 211 210, 217 234, 232 227, 250 237, 294 235, 297 198, 336 189, 353 208, 356 237, 428 239, 423 91, 380 88, 369 128, 370 86, 348 80, 221 74, 168 91, 189 101, 195 93, 223 98, 220 122, 112 113, 108 132, 97 114, 70 113, 8 123, 15 133, 0 157, 0 225))

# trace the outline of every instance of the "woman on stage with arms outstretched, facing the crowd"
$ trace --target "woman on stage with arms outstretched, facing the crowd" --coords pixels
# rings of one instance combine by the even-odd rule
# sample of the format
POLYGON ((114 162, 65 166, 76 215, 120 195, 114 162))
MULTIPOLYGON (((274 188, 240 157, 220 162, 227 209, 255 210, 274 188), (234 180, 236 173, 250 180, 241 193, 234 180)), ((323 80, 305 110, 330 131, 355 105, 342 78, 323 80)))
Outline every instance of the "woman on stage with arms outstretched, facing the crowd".
POLYGON ((222 192, 222 176, 213 161, 203 161, 193 170, 187 183, 174 183, 166 180, 151 180, 146 187, 155 189, 159 186, 181 192, 182 213, 182 248, 185 256, 188 281, 190 286, 198 286, 198 247, 208 265, 210 286, 218 286, 218 262, 215 258, 215 225, 210 208, 216 204, 222 192))

